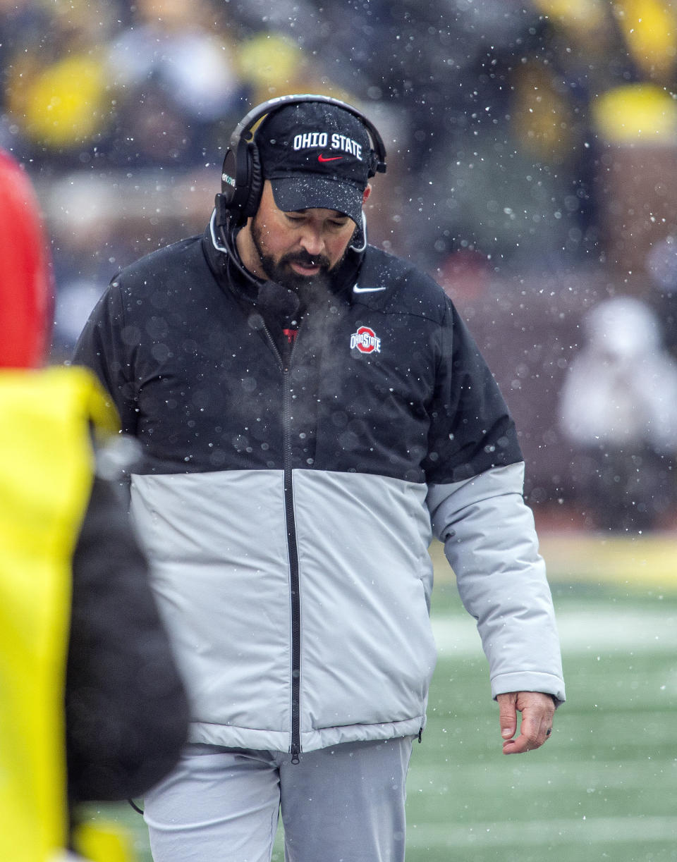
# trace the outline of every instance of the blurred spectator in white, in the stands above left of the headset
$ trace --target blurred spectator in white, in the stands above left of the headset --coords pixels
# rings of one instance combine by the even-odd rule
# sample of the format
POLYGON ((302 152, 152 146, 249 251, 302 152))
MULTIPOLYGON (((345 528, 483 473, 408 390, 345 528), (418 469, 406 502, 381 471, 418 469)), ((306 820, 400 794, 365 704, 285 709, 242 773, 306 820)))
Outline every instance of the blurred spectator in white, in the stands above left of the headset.
POLYGON ((138 0, 110 43, 106 70, 118 95, 116 165, 196 166, 239 115, 246 86, 238 45, 211 0, 138 0))

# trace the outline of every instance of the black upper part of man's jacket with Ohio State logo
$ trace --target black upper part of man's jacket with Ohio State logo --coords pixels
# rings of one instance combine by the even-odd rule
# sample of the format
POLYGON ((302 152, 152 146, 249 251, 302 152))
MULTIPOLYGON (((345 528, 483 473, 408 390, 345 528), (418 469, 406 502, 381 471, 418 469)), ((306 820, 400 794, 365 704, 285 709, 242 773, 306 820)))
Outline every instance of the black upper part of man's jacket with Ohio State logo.
POLYGON ((110 391, 147 472, 281 469, 285 446, 295 468, 415 482, 522 459, 465 324, 403 259, 367 247, 314 297, 286 369, 270 316, 255 283, 192 237, 118 273, 75 361, 110 391), (370 353, 351 347, 361 327, 370 353))

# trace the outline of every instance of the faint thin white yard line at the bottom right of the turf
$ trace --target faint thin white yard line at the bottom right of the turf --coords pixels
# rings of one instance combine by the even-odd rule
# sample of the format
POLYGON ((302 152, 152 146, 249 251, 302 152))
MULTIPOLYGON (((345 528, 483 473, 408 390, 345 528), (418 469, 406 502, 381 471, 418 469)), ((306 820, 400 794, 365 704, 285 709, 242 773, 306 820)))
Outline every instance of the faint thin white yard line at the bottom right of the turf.
POLYGON ((407 828, 410 849, 542 846, 674 841, 677 817, 581 817, 576 820, 493 821, 465 826, 417 822, 407 828))

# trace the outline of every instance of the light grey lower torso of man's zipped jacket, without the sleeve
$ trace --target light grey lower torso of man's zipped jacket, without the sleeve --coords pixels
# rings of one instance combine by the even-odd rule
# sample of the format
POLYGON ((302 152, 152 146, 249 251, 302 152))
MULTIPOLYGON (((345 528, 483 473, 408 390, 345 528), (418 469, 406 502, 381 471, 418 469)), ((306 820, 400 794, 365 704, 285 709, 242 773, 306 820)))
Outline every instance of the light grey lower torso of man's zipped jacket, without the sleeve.
MULTIPOLYGON (((436 659, 425 486, 297 470, 293 493, 303 750, 417 734, 436 659)), ((191 695, 191 739, 287 751, 282 472, 135 476, 132 503, 191 695)))

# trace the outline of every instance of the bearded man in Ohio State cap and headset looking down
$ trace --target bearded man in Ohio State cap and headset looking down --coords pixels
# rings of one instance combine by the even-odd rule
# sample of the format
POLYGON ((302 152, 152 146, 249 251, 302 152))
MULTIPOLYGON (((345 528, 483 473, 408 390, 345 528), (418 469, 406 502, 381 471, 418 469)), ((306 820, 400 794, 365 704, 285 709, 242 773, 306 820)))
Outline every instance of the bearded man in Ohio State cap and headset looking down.
POLYGON ((505 403, 441 288, 366 242, 385 155, 344 103, 252 110, 210 228, 118 273, 78 342, 147 455, 132 506, 190 687, 191 746, 146 797, 158 862, 269 859, 280 807, 294 862, 404 859, 432 533, 505 753, 564 698, 505 403))

